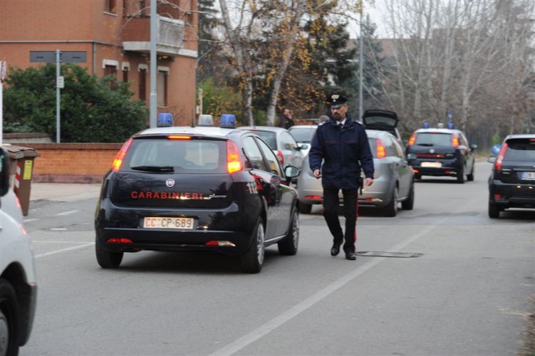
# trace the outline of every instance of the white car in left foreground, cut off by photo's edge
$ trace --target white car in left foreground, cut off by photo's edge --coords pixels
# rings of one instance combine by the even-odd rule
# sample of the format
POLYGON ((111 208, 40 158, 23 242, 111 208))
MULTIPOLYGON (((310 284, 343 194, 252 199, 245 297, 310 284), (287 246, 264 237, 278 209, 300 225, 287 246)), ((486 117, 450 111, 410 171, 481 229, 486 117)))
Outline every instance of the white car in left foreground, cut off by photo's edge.
POLYGON ((0 148, 0 355, 26 344, 36 309, 33 251, 21 204, 9 187, 9 158, 0 148))

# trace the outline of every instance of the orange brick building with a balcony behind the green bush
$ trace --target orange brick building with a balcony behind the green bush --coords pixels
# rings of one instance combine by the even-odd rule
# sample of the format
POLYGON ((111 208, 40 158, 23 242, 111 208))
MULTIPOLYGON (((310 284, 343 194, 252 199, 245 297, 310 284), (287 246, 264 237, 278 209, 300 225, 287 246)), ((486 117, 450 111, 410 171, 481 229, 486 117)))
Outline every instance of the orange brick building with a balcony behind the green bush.
MULTIPOLYGON (((197 0, 165 2, 157 8, 158 111, 187 125, 195 108, 197 0)), ((1 0, 0 59, 28 68, 60 50, 88 73, 130 82, 134 98, 148 105, 149 6, 150 0, 1 0)))

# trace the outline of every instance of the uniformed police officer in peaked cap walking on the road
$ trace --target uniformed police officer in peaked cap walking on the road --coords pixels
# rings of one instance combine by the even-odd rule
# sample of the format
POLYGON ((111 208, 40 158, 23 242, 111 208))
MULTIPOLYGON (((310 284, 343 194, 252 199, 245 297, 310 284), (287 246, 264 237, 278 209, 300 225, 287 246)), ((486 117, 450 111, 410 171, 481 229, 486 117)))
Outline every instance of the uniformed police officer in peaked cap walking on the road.
POLYGON ((368 135, 359 122, 353 121, 348 112, 347 99, 333 94, 327 98, 331 105, 331 118, 322 122, 316 130, 308 154, 314 177, 321 177, 323 185, 323 216, 333 235, 331 256, 343 251, 348 260, 355 260, 355 242, 358 189, 360 169, 364 171, 363 184, 373 184, 373 156, 368 144, 368 135), (323 160, 323 167, 321 166, 323 160), (343 211, 346 217, 346 232, 342 231, 338 220, 338 192, 342 189, 343 211))

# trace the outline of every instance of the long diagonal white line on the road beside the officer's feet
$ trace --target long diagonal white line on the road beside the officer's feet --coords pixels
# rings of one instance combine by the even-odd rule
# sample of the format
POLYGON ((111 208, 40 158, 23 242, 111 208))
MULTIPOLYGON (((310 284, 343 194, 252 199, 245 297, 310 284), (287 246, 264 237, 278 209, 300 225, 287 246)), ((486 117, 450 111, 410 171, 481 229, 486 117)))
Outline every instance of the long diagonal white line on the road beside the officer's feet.
MULTIPOLYGON (((462 209, 464 209, 465 207, 472 205, 474 201, 477 201, 477 199, 470 201, 469 204, 467 204, 466 206, 463 206, 462 208, 457 209, 457 211, 462 211, 462 209)), ((405 248, 407 245, 412 244, 412 242, 416 241, 417 239, 420 239, 420 237, 425 236, 433 229, 436 229, 438 226, 444 224, 445 221, 449 219, 450 219, 450 216, 447 216, 441 219, 440 221, 438 221, 436 224, 427 226, 427 228, 420 231, 420 233, 414 236, 411 236, 405 241, 400 242, 400 244, 398 245, 395 245, 393 248, 390 249, 390 251, 400 251, 402 248, 405 248)), ((244 347, 251 345, 256 340, 259 340, 259 338, 263 337, 264 335, 270 333, 272 330, 279 328, 279 326, 283 325, 287 321, 295 318, 297 315, 299 315, 303 311, 307 310, 308 308, 311 308, 311 306, 315 305, 316 303, 320 302, 324 298, 328 297, 329 295, 334 293, 336 290, 342 288, 343 286, 346 286, 346 284, 348 284, 350 281, 353 281, 353 279, 365 273, 370 268, 377 266, 379 263, 385 261, 386 259, 388 258, 378 257, 378 258, 374 258, 368 263, 364 263, 362 266, 358 267, 354 271, 351 271, 350 273, 346 274, 346 276, 339 278, 337 281, 334 281, 333 283, 326 286, 326 288, 323 288, 317 293, 311 295, 310 297, 303 300, 301 303, 294 305, 294 307, 290 308, 289 310, 280 314, 279 316, 276 316, 275 318, 269 320, 264 325, 261 325, 259 328, 256 328, 255 330, 251 331, 251 333, 246 334, 240 337, 238 340, 235 340, 234 342, 229 343, 227 346, 222 347, 221 349, 212 353, 210 356, 233 355, 234 353, 238 352, 244 347)))

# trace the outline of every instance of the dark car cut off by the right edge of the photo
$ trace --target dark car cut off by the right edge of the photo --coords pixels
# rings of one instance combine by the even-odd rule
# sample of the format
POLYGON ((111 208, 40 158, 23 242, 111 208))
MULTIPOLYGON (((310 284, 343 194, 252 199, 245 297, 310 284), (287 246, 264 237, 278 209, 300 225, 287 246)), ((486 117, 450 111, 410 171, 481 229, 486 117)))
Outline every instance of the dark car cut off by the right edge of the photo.
POLYGON ((535 135, 505 137, 489 178, 489 216, 508 208, 535 209, 535 135))

